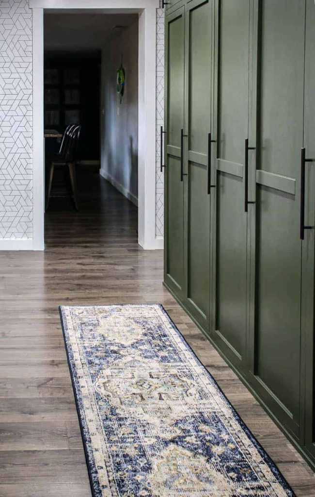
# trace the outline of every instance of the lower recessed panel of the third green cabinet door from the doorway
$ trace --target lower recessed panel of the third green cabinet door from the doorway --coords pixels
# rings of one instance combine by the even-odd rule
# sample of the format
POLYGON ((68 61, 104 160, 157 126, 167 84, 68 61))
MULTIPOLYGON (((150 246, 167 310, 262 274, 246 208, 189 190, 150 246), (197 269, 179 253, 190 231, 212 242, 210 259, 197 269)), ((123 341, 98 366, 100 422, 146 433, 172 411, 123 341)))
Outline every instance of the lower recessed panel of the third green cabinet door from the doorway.
POLYGON ((247 269, 247 214, 244 212, 243 178, 219 172, 217 195, 214 338, 228 355, 241 363, 246 348, 247 269))

